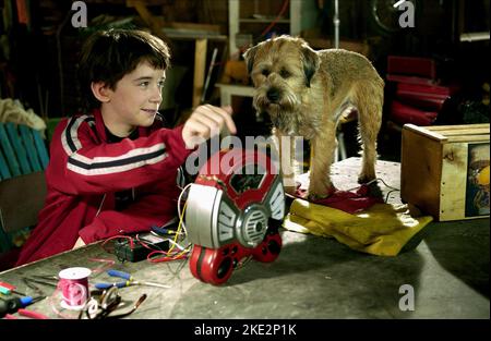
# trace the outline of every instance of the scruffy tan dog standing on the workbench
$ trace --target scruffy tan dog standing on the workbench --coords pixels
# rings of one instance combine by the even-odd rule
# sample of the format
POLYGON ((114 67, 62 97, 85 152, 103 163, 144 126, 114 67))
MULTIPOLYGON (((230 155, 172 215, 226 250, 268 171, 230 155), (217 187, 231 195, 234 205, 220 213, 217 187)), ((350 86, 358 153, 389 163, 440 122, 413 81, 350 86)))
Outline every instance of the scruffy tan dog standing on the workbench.
MULTIPOLYGON (((375 179, 384 81, 367 58, 343 49, 314 51, 303 39, 290 36, 260 42, 243 57, 255 87, 254 108, 270 114, 280 155, 285 147, 282 136, 302 136, 311 143, 311 198, 325 197, 334 191, 330 168, 337 145, 336 127, 349 107, 358 111, 359 139, 363 145, 358 181, 375 179)), ((289 155, 287 160, 280 157, 280 165, 285 190, 292 193, 298 170, 294 167, 295 153, 289 155)))

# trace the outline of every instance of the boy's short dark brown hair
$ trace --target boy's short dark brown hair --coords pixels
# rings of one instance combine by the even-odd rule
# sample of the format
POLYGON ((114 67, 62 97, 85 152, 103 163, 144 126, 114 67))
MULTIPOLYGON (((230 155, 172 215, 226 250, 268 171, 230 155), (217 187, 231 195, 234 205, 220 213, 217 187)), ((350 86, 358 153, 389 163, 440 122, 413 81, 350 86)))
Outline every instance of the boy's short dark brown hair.
POLYGON ((109 88, 116 89, 118 81, 142 61, 155 69, 166 70, 170 66, 168 46, 149 33, 137 29, 112 28, 89 36, 82 47, 79 63, 84 109, 91 111, 100 107, 91 90, 93 82, 104 82, 109 88))

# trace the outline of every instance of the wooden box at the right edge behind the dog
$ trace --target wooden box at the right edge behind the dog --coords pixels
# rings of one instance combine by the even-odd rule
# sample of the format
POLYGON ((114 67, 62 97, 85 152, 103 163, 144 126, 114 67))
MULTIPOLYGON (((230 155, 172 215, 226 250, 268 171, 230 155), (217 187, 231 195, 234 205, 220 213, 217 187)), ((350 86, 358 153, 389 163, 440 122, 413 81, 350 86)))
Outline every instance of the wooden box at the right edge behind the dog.
POLYGON ((490 124, 403 127, 400 197, 435 220, 489 217, 490 124))

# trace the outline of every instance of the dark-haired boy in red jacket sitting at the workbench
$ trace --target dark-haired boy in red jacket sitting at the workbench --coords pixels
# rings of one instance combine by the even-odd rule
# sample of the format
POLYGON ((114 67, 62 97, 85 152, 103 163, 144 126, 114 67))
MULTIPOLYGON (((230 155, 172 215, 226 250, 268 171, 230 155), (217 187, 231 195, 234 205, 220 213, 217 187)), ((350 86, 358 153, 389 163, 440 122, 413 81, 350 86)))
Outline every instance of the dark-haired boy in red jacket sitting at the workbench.
POLYGON ((169 65, 159 38, 110 29, 87 39, 80 63, 91 114, 55 130, 48 194, 16 266, 176 217, 178 168, 227 126, 230 108, 201 106, 179 127, 161 127, 158 108, 169 65))

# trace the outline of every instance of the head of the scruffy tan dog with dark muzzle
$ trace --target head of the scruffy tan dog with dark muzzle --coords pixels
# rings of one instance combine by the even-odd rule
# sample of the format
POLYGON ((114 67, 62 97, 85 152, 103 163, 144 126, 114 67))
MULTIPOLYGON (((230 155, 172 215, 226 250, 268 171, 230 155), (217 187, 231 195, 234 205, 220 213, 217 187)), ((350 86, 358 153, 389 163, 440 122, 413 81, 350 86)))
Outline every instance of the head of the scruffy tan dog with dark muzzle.
POLYGON ((243 54, 255 87, 254 108, 267 112, 277 129, 298 131, 302 94, 319 70, 320 58, 301 38, 282 36, 243 54))

